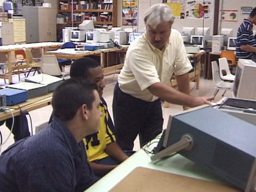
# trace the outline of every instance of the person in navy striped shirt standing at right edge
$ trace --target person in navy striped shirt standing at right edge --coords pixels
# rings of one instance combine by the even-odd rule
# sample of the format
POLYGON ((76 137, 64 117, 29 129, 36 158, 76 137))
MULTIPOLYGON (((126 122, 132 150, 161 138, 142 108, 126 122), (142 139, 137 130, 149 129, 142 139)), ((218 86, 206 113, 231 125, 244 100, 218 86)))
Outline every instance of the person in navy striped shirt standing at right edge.
POLYGON ((256 25, 256 7, 239 26, 236 35, 236 57, 256 61, 256 39, 253 36, 253 24, 256 25))

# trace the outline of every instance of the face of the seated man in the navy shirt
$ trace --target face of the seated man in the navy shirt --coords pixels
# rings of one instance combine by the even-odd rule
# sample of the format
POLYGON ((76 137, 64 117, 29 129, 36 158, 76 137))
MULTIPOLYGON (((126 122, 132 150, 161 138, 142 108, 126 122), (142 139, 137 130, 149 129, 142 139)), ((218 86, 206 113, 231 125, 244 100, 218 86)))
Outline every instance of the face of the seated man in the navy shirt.
POLYGON ((99 131, 100 117, 102 112, 100 110, 100 96, 96 90, 94 90, 94 102, 92 103, 92 109, 88 113, 88 134, 93 134, 99 131))

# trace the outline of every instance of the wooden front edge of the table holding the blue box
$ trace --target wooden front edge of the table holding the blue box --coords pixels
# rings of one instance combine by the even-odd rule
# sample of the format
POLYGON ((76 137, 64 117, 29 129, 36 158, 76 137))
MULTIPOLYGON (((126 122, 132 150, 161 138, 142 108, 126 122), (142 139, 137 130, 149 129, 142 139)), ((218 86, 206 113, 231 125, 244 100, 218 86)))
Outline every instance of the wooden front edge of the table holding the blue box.
MULTIPOLYGON (((20 103, 18 105, 22 110, 28 110, 28 111, 32 111, 44 106, 48 106, 51 104, 52 94, 53 92, 40 97, 28 99, 27 101, 20 103)), ((18 105, 7 106, 8 108, 10 108, 10 110, 12 110, 12 113, 14 116, 20 115, 20 108, 18 107, 18 105)), ((0 112, 0 121, 6 120, 8 118, 12 118, 12 114, 9 111, 0 112)))

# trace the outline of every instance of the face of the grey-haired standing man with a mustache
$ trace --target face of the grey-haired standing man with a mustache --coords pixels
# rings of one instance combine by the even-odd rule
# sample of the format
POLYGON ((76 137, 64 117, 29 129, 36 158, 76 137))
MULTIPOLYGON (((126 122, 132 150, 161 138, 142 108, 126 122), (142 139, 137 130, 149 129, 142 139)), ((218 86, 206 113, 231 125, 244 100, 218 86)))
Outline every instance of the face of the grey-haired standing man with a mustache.
POLYGON ((146 26, 146 34, 148 36, 148 39, 150 40, 150 43, 155 48, 162 50, 162 48, 164 48, 169 40, 171 28, 172 25, 170 25, 170 22, 162 22, 161 24, 157 25, 155 29, 150 27, 149 25, 146 26))

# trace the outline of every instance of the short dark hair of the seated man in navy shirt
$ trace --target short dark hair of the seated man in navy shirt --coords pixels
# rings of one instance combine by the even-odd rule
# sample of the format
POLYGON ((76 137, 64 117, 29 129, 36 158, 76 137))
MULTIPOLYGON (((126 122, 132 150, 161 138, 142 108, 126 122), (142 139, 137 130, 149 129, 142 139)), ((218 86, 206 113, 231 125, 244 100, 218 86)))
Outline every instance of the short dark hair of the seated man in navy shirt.
POLYGON ((96 84, 82 78, 70 78, 60 84, 52 96, 53 115, 60 120, 68 121, 74 118, 82 104, 92 109, 95 100, 93 91, 97 91, 96 84))

